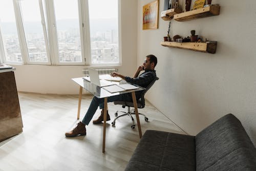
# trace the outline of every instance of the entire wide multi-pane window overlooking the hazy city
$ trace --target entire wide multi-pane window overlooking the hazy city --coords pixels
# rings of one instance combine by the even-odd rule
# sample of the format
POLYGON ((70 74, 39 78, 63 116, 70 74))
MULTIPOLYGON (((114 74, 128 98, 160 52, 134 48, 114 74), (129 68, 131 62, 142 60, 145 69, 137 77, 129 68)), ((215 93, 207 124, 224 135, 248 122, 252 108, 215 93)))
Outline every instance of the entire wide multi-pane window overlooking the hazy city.
POLYGON ((118 7, 118 0, 1 0, 2 61, 119 64, 118 7))

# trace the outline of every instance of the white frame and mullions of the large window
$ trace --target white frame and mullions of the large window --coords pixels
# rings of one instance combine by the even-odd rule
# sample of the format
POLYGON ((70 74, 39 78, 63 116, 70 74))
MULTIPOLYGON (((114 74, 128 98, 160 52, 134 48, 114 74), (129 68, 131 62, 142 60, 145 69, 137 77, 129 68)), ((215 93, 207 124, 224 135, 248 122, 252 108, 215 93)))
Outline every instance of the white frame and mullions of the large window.
MULTIPOLYGON (((13 0, 13 7, 15 13, 16 27, 18 32, 18 39, 20 45, 20 53, 22 55, 22 62, 9 62, 10 64, 23 65, 49 65, 49 66, 118 66, 122 63, 121 58, 121 1, 118 1, 118 63, 92 63, 91 62, 91 40, 90 40, 90 19, 89 19, 89 3, 88 0, 77 0, 78 2, 78 17, 79 17, 79 31, 81 42, 81 62, 60 62, 58 37, 56 28, 56 17, 54 0, 39 0, 39 10, 41 16, 41 26, 44 32, 46 52, 48 62, 29 61, 29 52, 23 27, 23 17, 21 13, 20 0, 13 0), (44 11, 44 1, 45 10, 44 11), (45 19, 46 18, 46 19, 45 19), (46 28, 47 27, 47 28, 46 28)), ((0 29, 0 60, 6 62, 3 39, 0 29)))

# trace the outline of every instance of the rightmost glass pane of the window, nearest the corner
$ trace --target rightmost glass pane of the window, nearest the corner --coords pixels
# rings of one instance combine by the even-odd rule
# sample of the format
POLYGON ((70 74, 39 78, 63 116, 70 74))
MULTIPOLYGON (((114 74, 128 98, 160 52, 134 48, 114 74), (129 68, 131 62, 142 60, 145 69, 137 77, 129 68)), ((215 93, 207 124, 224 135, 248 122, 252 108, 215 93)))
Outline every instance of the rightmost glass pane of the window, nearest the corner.
POLYGON ((91 61, 119 63, 118 0, 89 0, 91 61))

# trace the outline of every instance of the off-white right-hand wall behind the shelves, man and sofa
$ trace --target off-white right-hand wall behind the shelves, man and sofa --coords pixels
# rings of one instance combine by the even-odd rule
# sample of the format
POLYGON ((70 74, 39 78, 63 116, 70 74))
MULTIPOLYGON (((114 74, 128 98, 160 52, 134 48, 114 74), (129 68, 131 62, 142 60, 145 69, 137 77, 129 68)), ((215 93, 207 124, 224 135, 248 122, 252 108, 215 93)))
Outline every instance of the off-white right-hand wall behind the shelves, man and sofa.
POLYGON ((195 29, 218 41, 216 54, 162 47, 168 21, 159 17, 159 29, 142 30, 142 7, 150 2, 138 1, 138 65, 155 54, 160 79, 147 99, 190 135, 232 113, 256 145, 256 1, 213 0, 221 6, 218 16, 172 20, 172 36, 188 36, 195 29))

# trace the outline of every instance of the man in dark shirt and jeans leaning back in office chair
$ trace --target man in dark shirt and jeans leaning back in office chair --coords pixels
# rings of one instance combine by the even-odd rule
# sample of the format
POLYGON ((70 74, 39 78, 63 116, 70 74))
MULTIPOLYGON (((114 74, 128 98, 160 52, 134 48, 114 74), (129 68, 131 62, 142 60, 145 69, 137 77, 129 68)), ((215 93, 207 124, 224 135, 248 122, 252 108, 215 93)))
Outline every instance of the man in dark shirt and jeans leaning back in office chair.
MULTIPOLYGON (((136 84, 140 87, 146 88, 148 84, 150 84, 155 78, 156 78, 156 71, 155 67, 157 65, 157 57, 154 55, 147 55, 143 65, 139 66, 134 77, 128 77, 128 76, 123 76, 121 74, 118 74, 116 72, 113 72, 111 74, 112 77, 120 77, 124 79, 126 82, 130 82, 133 84, 136 84), (139 73, 145 70, 142 74, 139 75, 139 73)), ((136 99, 139 99, 141 97, 142 91, 137 91, 135 92, 136 94, 136 99)), ((131 93, 125 93, 125 94, 120 94, 116 96, 111 96, 108 97, 108 102, 113 102, 113 101, 133 101, 132 94, 131 93)), ((90 121, 93 118, 93 115, 99 108, 101 109, 101 115, 99 116, 98 119, 93 121, 93 124, 99 124, 103 121, 103 109, 104 109, 104 98, 97 98, 93 97, 91 104, 89 106, 89 109, 86 113, 86 115, 83 117, 82 121, 77 124, 77 126, 70 132, 67 132, 65 135, 66 137, 76 137, 78 135, 86 135, 86 125, 90 123, 90 121)), ((106 120, 110 120, 110 115, 109 112, 107 111, 106 114, 106 120)))

